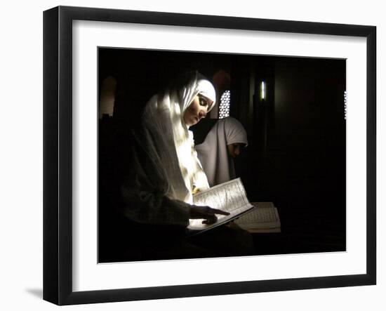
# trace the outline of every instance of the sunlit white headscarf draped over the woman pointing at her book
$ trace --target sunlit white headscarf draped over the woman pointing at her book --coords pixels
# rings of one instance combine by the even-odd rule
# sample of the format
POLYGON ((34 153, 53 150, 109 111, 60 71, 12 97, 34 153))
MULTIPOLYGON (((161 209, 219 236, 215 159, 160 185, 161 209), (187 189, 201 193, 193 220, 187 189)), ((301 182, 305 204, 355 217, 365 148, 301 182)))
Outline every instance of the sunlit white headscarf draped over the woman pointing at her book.
POLYGON ((195 72, 186 84, 170 88, 162 95, 154 95, 145 107, 142 123, 146 130, 146 149, 158 172, 166 177, 166 195, 192 203, 194 187, 208 189, 208 180, 194 149, 193 134, 185 124, 184 113, 198 94, 213 101, 215 89, 204 76, 195 72))

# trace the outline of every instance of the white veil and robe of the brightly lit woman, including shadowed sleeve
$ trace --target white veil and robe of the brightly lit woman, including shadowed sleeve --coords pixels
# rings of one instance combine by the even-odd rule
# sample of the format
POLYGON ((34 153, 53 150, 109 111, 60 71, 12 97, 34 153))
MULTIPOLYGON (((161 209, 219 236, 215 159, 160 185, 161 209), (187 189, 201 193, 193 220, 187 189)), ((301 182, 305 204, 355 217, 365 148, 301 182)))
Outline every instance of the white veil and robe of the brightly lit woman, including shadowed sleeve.
POLYGON ((140 223, 187 225, 187 204, 192 204, 194 187, 208 189, 192 132, 183 119, 185 110, 199 93, 213 100, 210 110, 215 103, 215 90, 198 73, 180 90, 154 95, 147 102, 141 131, 133 133, 131 185, 123 191, 131 204, 125 209, 129 218, 140 223), (169 206, 165 206, 165 200, 169 206))

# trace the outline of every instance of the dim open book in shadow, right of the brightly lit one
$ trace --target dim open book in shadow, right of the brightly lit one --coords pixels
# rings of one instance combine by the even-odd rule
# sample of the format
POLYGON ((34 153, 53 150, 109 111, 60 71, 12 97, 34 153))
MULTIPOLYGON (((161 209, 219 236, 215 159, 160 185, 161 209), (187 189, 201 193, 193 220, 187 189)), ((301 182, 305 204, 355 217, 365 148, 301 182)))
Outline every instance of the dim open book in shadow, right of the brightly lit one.
POLYGON ((252 204, 256 208, 251 213, 234 220, 234 223, 252 233, 281 232, 279 213, 272 202, 252 204))

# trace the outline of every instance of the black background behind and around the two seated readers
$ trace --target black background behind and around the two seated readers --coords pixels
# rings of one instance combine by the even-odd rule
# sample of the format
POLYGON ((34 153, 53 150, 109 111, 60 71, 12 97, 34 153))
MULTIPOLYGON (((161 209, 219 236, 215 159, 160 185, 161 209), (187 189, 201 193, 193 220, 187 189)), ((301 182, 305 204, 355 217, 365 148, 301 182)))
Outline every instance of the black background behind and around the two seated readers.
MULTIPOLYGON (((198 70, 230 90, 230 116, 248 133, 236 159, 250 201, 272 201, 281 233, 254 234, 256 254, 345 251, 346 62, 262 55, 98 49, 99 89, 117 82, 113 117, 99 124, 99 241, 130 165, 127 133, 147 100, 182 72, 198 70), (227 79, 230 77, 230 79, 227 79), (260 97, 265 81, 267 96, 260 97)), ((200 143, 217 110, 192 127, 200 143)), ((100 248, 101 249, 101 248, 100 248)))

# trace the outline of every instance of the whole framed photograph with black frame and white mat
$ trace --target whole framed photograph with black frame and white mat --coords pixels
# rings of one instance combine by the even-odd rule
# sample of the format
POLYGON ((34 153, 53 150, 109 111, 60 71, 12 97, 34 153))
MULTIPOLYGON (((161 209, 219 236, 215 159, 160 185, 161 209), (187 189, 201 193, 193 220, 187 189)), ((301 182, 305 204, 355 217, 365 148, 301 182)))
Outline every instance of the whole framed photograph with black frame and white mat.
POLYGON ((376 282, 376 28, 44 12, 44 299, 376 282))

